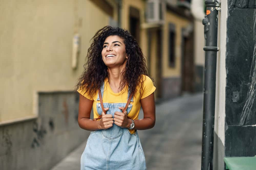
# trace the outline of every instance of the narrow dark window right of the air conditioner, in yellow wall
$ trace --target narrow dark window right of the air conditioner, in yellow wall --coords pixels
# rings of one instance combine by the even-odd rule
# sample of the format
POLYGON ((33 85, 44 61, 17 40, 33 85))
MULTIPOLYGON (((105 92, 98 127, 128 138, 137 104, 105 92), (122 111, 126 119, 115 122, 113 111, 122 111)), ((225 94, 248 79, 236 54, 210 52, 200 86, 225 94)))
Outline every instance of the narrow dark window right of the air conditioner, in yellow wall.
POLYGON ((175 25, 169 23, 169 67, 175 67, 175 25))

